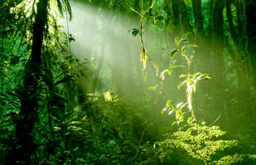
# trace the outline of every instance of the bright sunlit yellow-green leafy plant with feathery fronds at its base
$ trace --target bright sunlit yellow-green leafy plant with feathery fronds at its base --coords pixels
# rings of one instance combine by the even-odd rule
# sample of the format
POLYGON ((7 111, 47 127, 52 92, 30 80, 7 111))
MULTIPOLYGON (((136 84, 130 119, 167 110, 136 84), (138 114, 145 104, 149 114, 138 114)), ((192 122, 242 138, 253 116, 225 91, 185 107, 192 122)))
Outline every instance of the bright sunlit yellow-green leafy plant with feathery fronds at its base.
MULTIPOLYGON (((222 151, 226 148, 231 148, 233 146, 238 146, 237 140, 216 140, 218 136, 224 135, 226 132, 221 131, 218 126, 205 126, 205 122, 199 123, 195 117, 193 108, 192 108, 192 93, 195 92, 196 82, 199 80, 208 80, 211 79, 209 74, 202 74, 200 72, 195 74, 190 74, 191 61, 194 54, 195 47, 197 45, 185 45, 180 48, 180 44, 182 42, 188 42, 186 37, 188 34, 185 34, 179 39, 179 37, 175 38, 176 48, 167 51, 166 53, 170 53, 170 57, 173 58, 177 52, 180 52, 181 55, 188 62, 188 73, 181 74, 181 77, 186 77, 181 84, 179 84, 178 89, 181 88, 184 84, 186 84, 187 90, 187 102, 180 103, 179 105, 172 104, 171 100, 168 100, 166 103, 166 108, 164 108, 161 113, 163 114, 165 111, 168 112, 169 115, 172 112, 175 112, 175 119, 172 123, 172 126, 177 124, 179 131, 174 132, 173 134, 166 134, 166 139, 164 142, 160 143, 171 148, 181 147, 188 152, 194 158, 202 160, 205 165, 209 164, 231 164, 236 162, 244 162, 248 159, 256 159, 256 155, 249 154, 236 154, 234 156, 225 156, 221 158, 219 161, 213 161, 212 155, 216 154, 218 151, 222 151), (186 54, 186 48, 193 47, 192 54, 189 56, 186 54), (188 105, 188 109, 185 109, 185 105, 188 105), (189 113, 191 117, 188 117, 186 122, 184 122, 185 114, 189 113)), ((169 46, 169 45, 167 45, 169 46)), ((166 46, 166 47, 167 47, 166 46)), ((164 47, 165 48, 165 47, 164 47)), ((163 48, 163 49, 164 49, 163 48)), ((165 53, 165 54, 166 54, 165 53)), ((170 67, 174 62, 170 64, 170 67)), ((168 68, 169 73, 169 68, 168 68)), ((170 74, 170 73, 169 73, 170 74)), ((218 120, 218 119, 217 119, 218 120)), ((217 121, 216 120, 216 121, 217 121)), ((214 121, 215 122, 215 121, 214 121)))

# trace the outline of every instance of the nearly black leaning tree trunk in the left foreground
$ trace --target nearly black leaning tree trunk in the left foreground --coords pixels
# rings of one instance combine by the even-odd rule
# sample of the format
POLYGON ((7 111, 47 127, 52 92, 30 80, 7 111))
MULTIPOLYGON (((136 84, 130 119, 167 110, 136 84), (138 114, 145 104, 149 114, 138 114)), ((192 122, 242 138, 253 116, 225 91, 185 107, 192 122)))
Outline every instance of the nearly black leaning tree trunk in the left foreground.
POLYGON ((33 27, 33 44, 30 58, 24 71, 24 91, 25 97, 21 100, 20 119, 16 125, 17 153, 14 164, 31 164, 31 157, 35 151, 34 137, 31 135, 37 116, 36 97, 30 99, 37 93, 38 80, 41 66, 41 48, 43 32, 47 22, 48 0, 39 0, 37 4, 37 14, 33 27), (19 163, 18 163, 19 162, 19 163))

